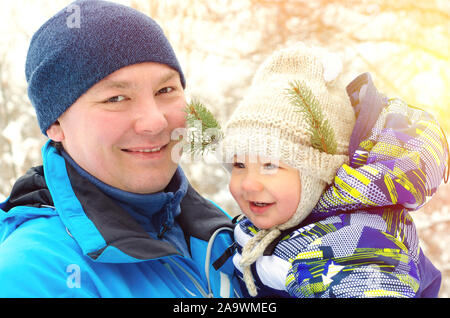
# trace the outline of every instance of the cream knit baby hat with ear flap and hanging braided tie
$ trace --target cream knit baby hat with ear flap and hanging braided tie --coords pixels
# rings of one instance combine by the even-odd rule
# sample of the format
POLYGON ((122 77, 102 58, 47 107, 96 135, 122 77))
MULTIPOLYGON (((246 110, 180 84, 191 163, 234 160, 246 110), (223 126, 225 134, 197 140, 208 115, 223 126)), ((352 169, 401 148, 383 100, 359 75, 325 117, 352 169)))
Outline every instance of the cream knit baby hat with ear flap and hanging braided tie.
POLYGON ((256 295, 256 288, 250 265, 281 230, 298 225, 308 216, 337 169, 348 162, 355 115, 339 81, 339 63, 335 55, 302 43, 276 51, 259 67, 248 94, 225 126, 222 152, 228 169, 235 155, 263 156, 296 168, 301 181, 300 203, 292 218, 260 230, 243 247, 241 266, 252 296, 256 295), (313 147, 311 127, 287 92, 293 82, 302 83, 311 91, 333 130, 336 151, 332 154, 313 147))

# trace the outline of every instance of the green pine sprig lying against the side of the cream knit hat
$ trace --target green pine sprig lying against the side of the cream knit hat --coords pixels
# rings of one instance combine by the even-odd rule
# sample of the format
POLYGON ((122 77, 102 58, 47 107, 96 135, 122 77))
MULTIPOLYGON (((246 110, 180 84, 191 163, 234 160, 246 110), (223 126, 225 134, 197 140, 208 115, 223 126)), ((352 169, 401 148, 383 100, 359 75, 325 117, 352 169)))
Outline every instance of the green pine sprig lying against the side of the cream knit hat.
POLYGON ((324 118, 319 102, 311 90, 303 82, 295 81, 290 83, 288 94, 292 104, 298 107, 309 124, 311 145, 325 153, 335 154, 337 144, 334 131, 324 118))

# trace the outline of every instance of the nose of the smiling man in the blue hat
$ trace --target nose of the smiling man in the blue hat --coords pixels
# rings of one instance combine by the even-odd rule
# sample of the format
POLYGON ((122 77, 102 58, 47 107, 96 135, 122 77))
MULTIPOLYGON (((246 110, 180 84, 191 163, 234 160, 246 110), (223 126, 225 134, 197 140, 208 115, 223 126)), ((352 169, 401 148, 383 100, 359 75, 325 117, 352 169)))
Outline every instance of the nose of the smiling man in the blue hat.
POLYGON ((153 97, 139 103, 134 125, 136 133, 157 135, 164 131, 167 126, 166 114, 153 97))

